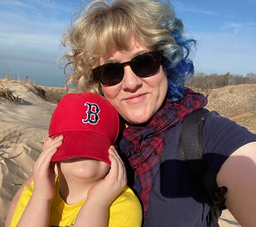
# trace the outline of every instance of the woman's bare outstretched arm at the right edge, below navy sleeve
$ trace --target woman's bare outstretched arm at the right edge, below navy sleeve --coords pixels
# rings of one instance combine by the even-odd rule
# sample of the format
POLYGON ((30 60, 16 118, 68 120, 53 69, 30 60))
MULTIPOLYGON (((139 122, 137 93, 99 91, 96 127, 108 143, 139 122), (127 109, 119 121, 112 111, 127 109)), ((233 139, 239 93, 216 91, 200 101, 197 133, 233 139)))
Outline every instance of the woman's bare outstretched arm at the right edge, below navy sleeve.
POLYGON ((256 226, 256 142, 239 147, 217 175, 218 186, 228 188, 225 205, 242 226, 256 226))

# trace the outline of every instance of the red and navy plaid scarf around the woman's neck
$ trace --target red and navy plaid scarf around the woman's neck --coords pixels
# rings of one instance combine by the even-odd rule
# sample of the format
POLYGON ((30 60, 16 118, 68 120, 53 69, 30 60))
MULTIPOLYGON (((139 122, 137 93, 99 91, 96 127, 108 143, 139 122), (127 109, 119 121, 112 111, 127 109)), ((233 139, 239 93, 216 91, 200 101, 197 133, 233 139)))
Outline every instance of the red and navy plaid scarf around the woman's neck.
POLYGON ((162 147, 167 133, 176 123, 196 109, 203 108, 207 100, 202 94, 186 89, 180 101, 167 99, 161 109, 145 126, 130 126, 123 130, 120 152, 128 159, 134 171, 133 190, 142 201, 143 215, 147 213, 149 195, 159 171, 162 147))

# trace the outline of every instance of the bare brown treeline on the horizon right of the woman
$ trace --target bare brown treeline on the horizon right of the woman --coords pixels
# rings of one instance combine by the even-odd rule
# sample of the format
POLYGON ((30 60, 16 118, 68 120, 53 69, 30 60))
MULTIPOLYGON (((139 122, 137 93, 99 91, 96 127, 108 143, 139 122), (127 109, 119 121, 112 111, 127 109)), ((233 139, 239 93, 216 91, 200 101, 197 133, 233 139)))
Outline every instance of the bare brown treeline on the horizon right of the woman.
POLYGON ((224 75, 196 73, 191 79, 186 81, 186 86, 197 89, 213 89, 226 85, 256 84, 256 74, 248 73, 246 76, 233 75, 226 73, 224 75))

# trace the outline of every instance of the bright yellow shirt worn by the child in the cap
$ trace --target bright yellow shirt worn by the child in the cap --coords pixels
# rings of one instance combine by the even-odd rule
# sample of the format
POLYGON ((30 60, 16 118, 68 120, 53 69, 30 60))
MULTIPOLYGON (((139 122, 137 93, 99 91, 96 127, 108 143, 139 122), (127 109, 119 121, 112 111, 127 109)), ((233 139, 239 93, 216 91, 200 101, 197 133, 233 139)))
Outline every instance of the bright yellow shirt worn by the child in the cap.
MULTIPOLYGON (((12 216, 11 226, 16 226, 20 220, 23 211, 31 198, 34 188, 34 182, 29 186, 25 186, 22 195, 17 202, 16 210, 12 216)), ((86 199, 85 199, 86 200, 86 199)), ((56 177, 56 196, 52 200, 51 215, 49 226, 65 226, 74 225, 75 218, 80 208, 84 205, 85 200, 74 205, 68 205, 60 197, 59 181, 56 177)), ((40 221, 40 220, 39 220, 40 221)), ((109 207, 109 227, 137 227, 142 223, 142 208, 140 202, 133 191, 126 186, 121 194, 114 200, 109 207)))

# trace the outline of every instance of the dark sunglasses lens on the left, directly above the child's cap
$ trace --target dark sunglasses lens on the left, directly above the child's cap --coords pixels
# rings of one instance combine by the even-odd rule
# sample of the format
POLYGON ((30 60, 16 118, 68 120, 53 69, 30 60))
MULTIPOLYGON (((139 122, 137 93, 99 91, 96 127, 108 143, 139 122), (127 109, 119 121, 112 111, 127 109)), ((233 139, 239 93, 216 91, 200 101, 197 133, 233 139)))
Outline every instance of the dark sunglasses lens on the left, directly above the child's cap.
POLYGON ((108 63, 93 70, 98 80, 106 86, 117 85, 123 80, 123 65, 108 63))

